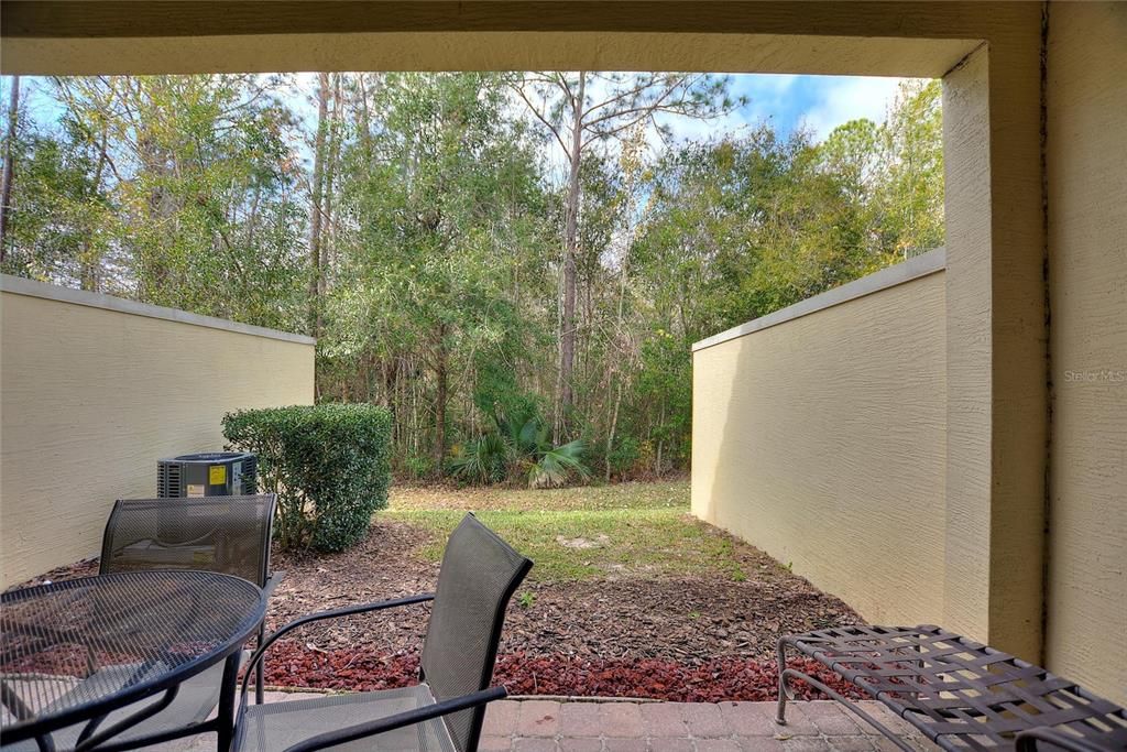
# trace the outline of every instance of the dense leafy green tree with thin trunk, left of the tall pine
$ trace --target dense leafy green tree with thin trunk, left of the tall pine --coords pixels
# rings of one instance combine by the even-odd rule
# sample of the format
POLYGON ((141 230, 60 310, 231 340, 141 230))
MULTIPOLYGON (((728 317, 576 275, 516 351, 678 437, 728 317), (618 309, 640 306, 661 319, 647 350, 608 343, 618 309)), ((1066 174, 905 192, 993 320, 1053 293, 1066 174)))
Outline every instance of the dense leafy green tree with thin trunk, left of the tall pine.
POLYGON ((433 471, 450 444, 452 382, 472 364, 467 355, 499 336, 495 320, 507 307, 498 299, 514 266, 507 241, 538 193, 532 156, 516 124, 502 120, 503 105, 495 76, 387 74, 370 103, 379 126, 346 160, 343 198, 356 235, 336 295, 349 302, 334 307, 336 320, 369 328, 352 350, 409 351, 427 372, 433 471))

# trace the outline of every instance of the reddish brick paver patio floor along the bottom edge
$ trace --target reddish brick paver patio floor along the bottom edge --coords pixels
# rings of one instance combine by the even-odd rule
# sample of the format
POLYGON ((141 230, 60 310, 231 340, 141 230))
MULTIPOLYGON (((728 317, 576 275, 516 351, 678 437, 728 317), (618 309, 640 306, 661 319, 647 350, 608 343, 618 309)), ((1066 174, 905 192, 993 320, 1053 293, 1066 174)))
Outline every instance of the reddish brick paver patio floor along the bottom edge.
MULTIPOLYGON (((312 695, 267 692, 266 701, 312 695)), ((921 752, 937 746, 879 702, 866 710, 921 752)), ((486 711, 480 752, 897 752, 836 702, 792 702, 786 726, 774 702, 503 700, 486 711)), ((357 718, 357 720, 361 720, 357 718)), ((149 747, 157 750, 158 747, 149 747)), ((215 749, 215 735, 160 745, 162 752, 215 749)))

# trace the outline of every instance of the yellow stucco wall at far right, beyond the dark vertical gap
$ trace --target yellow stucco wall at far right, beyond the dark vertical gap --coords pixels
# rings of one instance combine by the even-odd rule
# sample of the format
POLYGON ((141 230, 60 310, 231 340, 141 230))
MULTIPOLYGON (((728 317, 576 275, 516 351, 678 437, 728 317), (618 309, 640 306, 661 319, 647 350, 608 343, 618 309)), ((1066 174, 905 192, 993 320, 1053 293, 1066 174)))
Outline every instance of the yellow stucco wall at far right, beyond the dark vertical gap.
POLYGON ((1127 5, 1049 9, 1046 657, 1127 704, 1127 5))

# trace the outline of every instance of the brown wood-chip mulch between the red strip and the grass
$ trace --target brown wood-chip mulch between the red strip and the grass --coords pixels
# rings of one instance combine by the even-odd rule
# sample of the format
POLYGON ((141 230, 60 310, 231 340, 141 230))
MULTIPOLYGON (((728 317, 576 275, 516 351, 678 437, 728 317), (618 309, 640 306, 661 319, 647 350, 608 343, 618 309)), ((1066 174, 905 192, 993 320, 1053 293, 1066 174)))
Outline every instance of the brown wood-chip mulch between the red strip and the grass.
MULTIPOLYGON (((367 540, 344 554, 275 556, 274 567, 285 577, 270 601, 268 626, 318 609, 433 591, 438 565, 415 554, 425 541, 425 533, 408 524, 381 520, 367 540)), ((509 605, 502 653, 699 666, 726 657, 773 660, 779 635, 861 623, 840 600, 778 570, 745 582, 721 575, 623 576, 530 583, 520 592, 532 603, 525 608, 514 599, 509 605)), ((409 653, 418 648, 427 613, 412 607, 352 617, 307 628, 302 639, 326 651, 409 653)))

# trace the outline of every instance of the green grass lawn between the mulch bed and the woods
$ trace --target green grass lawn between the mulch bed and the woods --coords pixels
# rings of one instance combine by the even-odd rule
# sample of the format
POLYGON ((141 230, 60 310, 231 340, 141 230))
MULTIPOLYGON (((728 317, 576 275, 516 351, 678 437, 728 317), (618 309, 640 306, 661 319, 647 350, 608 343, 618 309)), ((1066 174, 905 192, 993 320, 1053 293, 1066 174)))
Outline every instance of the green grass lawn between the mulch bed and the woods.
POLYGON ((778 569, 690 516, 687 480, 550 490, 393 487, 379 514, 432 533, 419 552, 437 560, 465 510, 536 563, 533 582, 662 575, 744 582, 748 567, 760 578, 778 569))

